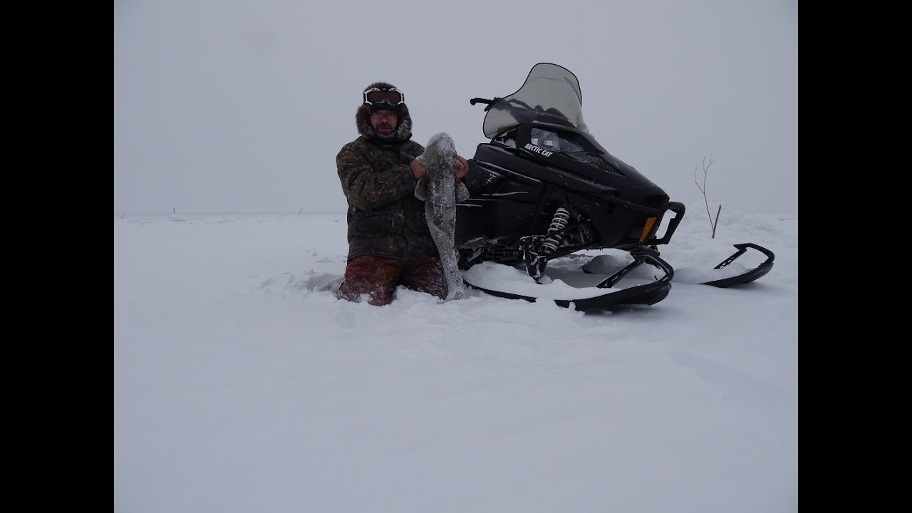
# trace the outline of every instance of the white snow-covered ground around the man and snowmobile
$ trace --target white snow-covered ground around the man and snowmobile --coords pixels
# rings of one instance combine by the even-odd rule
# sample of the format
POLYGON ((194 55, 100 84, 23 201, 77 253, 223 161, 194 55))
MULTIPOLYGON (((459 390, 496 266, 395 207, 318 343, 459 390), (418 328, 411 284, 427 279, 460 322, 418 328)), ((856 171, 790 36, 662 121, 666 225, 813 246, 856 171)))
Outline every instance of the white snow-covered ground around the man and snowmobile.
POLYGON ((688 207, 668 298, 598 313, 338 300, 344 214, 115 215, 115 511, 797 511, 798 216, 688 207))

